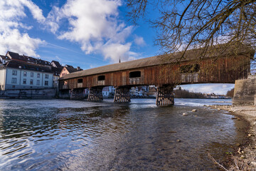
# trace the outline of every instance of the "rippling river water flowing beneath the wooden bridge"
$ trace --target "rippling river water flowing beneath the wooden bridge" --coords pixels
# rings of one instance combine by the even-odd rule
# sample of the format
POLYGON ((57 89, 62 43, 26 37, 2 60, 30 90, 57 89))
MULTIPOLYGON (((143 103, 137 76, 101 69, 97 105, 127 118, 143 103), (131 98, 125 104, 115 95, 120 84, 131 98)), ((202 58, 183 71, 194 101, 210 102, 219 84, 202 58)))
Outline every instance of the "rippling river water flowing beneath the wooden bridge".
POLYGON ((231 100, 175 103, 0 100, 0 170, 217 170, 208 152, 222 160, 246 124, 203 105, 231 100))

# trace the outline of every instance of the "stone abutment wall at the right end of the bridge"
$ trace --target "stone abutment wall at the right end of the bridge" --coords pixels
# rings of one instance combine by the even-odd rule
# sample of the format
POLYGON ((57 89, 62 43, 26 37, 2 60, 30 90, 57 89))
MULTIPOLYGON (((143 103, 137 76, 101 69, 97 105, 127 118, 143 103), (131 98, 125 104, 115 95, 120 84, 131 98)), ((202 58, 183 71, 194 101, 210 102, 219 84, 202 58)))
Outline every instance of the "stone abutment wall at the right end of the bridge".
POLYGON ((256 104, 256 76, 249 76, 248 79, 235 81, 234 105, 256 104))

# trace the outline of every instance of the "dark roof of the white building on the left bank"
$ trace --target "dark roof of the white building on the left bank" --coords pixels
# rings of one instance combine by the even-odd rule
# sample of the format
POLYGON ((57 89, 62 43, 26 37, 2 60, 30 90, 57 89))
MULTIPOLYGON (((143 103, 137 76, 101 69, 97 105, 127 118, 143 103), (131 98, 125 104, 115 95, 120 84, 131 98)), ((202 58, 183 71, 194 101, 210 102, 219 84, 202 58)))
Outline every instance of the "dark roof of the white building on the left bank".
POLYGON ((52 71, 50 71, 50 68, 48 68, 48 67, 43 67, 43 66, 39 66, 37 64, 26 63, 23 61, 15 61, 15 60, 9 61, 1 68, 17 68, 17 69, 23 69, 23 70, 52 73, 52 71))

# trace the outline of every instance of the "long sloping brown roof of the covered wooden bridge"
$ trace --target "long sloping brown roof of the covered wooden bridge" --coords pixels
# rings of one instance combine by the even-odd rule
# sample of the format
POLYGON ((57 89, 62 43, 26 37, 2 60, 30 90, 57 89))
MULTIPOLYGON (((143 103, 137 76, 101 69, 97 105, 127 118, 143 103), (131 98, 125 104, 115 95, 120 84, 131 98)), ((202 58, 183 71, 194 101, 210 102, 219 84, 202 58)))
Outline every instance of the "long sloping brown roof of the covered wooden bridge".
MULTIPOLYGON (((69 78, 78 78, 82 76, 90 76, 95 75, 99 73, 109 73, 114 71, 124 71, 129 69, 135 69, 135 68, 143 68, 147 66, 159 66, 162 64, 167 63, 176 63, 178 61, 193 61, 199 58, 200 54, 202 53, 202 49, 191 49, 186 51, 184 58, 181 58, 183 52, 177 52, 177 53, 171 53, 169 55, 161 55, 161 56, 153 56, 148 58, 141 58, 134 61, 127 61, 122 63, 114 63, 107 66, 100 66, 97 68, 91 68, 84 71, 78 71, 75 73, 70 73, 63 78, 60 79, 69 79, 69 78)), ((239 54, 245 54, 245 53, 255 53, 252 48, 248 48, 248 46, 243 46, 238 49, 237 52, 233 51, 233 49, 230 49, 230 51, 225 50, 220 51, 220 48, 215 48, 213 53, 211 55, 204 56, 204 58, 213 58, 216 56, 230 56, 232 54, 239 55, 239 54)), ((252 55, 253 56, 253 55, 252 55)))

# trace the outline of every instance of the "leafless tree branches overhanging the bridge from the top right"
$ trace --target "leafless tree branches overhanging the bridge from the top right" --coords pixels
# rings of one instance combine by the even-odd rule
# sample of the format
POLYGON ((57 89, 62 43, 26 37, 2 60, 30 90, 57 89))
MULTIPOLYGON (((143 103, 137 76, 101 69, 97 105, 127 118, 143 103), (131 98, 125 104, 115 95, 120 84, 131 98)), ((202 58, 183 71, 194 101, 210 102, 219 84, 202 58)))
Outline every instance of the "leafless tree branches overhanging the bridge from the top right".
POLYGON ((127 0, 127 6, 134 24, 144 19, 156 28, 161 53, 182 51, 180 60, 191 48, 202 49, 198 58, 219 44, 223 51, 255 49, 256 0, 127 0))

